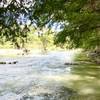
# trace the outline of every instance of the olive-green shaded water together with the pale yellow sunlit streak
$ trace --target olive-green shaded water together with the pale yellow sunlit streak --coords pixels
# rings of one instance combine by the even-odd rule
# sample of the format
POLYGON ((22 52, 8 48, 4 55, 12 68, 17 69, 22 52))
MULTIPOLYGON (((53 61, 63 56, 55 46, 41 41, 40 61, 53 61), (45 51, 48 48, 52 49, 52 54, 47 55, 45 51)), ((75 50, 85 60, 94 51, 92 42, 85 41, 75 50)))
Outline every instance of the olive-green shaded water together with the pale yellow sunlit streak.
MULTIPOLYGON (((61 82, 65 89, 70 88, 70 96, 54 100, 100 100, 100 66, 83 64, 70 66, 71 72, 53 78, 61 82)), ((47 99, 49 100, 49 99, 47 99)), ((51 99, 52 100, 52 99, 51 99)))

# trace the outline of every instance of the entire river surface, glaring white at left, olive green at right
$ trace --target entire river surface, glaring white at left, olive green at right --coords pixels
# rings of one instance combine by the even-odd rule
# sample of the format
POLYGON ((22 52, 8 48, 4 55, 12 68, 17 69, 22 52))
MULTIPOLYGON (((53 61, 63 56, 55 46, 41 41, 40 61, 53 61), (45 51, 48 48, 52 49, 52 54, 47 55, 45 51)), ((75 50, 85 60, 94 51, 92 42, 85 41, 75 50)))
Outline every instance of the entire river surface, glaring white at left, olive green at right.
POLYGON ((96 85, 100 80, 95 76, 99 73, 95 74, 94 67, 85 71, 84 66, 64 65, 73 62, 76 52, 0 58, 1 61, 18 61, 0 65, 0 100, 100 100, 100 87, 96 85), (87 99, 83 96, 79 99, 78 94, 86 95, 87 99))

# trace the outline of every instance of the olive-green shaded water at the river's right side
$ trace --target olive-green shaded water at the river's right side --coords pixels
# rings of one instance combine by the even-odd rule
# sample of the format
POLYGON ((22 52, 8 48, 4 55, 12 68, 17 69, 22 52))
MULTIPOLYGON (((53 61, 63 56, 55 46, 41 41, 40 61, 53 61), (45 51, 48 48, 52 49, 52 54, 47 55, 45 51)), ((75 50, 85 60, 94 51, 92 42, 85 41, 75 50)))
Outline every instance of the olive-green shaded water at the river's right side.
POLYGON ((100 66, 82 64, 73 66, 71 74, 77 76, 70 80, 71 88, 77 91, 77 95, 71 100, 100 100, 100 66))

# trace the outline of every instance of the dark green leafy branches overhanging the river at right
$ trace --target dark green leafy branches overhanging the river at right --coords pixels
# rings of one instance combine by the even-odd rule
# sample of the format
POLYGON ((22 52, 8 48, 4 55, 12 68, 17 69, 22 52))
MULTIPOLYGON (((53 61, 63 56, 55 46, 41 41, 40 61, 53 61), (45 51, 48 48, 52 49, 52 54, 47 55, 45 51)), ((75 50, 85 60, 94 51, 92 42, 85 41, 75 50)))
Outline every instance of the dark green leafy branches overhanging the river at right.
MULTIPOLYGON (((55 43, 66 43, 66 37, 68 37, 74 47, 95 48, 100 46, 100 9, 91 8, 90 1, 69 0, 65 11, 69 24, 57 34, 55 43)), ((95 1, 93 5, 96 6, 98 3, 95 1)))

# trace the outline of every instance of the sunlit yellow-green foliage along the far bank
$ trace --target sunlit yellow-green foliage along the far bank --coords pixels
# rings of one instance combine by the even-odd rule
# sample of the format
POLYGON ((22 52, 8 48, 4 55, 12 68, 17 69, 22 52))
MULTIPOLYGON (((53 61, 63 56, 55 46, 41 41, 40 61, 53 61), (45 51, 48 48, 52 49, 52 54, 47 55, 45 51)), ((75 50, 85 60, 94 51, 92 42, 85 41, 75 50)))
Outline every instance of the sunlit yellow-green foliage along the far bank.
MULTIPOLYGON (((48 51, 58 48, 56 45, 54 45, 54 35, 50 30, 46 31, 41 37, 39 37, 33 27, 30 27, 30 32, 28 32, 26 38, 21 36, 16 37, 16 42, 20 48, 41 49, 43 52, 44 49, 48 51), (24 47, 22 40, 24 41, 24 47)), ((16 42, 6 41, 6 39, 3 37, 0 42, 0 48, 16 48, 16 42)))

